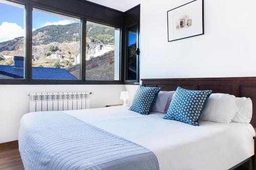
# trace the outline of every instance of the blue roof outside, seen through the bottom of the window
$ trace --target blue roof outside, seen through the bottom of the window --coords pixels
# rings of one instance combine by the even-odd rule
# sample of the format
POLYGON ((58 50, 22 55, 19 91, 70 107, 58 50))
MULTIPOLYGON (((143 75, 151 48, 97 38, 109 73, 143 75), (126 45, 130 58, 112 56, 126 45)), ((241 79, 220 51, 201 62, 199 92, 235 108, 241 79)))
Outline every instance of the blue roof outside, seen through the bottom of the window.
MULTIPOLYGON (((13 65, 0 65, 0 74, 16 79, 24 79, 24 68, 13 65)), ((32 67, 33 79, 77 80, 75 76, 63 68, 32 67)))

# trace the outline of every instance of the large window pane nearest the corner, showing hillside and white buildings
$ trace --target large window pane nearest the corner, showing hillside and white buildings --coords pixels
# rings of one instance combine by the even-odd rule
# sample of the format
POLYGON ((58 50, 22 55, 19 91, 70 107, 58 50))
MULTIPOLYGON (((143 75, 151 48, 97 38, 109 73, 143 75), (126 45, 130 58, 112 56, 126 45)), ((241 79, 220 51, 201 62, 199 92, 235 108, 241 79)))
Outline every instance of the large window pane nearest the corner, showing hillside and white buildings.
POLYGON ((120 29, 87 22, 86 80, 119 80, 120 29))

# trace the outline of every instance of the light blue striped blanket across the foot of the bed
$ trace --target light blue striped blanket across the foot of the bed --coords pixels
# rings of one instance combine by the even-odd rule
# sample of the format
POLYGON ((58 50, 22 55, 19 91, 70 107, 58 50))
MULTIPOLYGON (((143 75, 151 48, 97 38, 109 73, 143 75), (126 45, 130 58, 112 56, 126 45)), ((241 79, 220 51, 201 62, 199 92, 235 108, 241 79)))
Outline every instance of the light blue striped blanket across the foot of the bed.
POLYGON ((159 169, 148 149, 63 112, 24 115, 18 142, 26 170, 159 169))

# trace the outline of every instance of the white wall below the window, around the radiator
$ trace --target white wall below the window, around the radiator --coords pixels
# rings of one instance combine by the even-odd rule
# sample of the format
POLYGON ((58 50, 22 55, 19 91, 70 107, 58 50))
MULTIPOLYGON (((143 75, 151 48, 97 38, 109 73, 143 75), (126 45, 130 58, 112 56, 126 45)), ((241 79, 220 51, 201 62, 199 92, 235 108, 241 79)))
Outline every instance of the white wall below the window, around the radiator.
POLYGON ((91 91, 91 108, 121 104, 123 85, 0 85, 0 143, 17 140, 19 120, 29 112, 32 92, 91 91))

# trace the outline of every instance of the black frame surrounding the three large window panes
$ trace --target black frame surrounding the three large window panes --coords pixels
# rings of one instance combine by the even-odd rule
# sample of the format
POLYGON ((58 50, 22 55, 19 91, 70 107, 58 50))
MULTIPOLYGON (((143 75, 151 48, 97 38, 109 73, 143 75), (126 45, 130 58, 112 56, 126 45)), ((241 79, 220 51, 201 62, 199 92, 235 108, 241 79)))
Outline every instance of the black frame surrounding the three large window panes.
MULTIPOLYGON (((91 17, 87 15, 82 15, 78 13, 74 13, 68 10, 63 10, 55 7, 51 7, 48 5, 44 5, 41 3, 37 3, 31 0, 6 0, 9 2, 21 4, 25 6, 25 39, 24 39, 24 50, 25 50, 25 78, 24 79, 0 79, 0 84, 123 84, 124 82, 124 71, 123 71, 123 62, 124 62, 124 29, 123 25, 113 23, 110 21, 102 20, 96 17, 91 17), (81 72, 81 80, 45 80, 45 79, 32 79, 32 11, 33 8, 49 11, 53 13, 58 13, 61 15, 66 15, 74 18, 81 19, 81 64, 80 64, 80 72, 81 72), (120 64, 119 64, 119 81, 94 81, 94 80, 86 80, 86 23, 87 21, 92 21, 96 23, 100 23, 102 25, 111 26, 120 29, 120 64)), ((91 4, 91 3, 89 3, 91 4)), ((95 4, 94 4, 95 5, 95 4)), ((107 7, 102 7, 103 10, 113 10, 107 7), (105 8, 105 9, 104 9, 105 8)), ((117 10, 113 10, 117 11, 117 10)), ((120 12, 120 11, 117 11, 120 12)), ((123 13, 123 12, 120 12, 123 13)))

